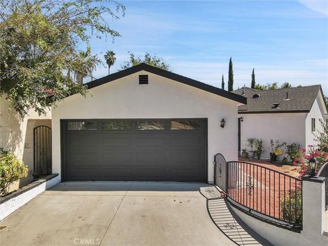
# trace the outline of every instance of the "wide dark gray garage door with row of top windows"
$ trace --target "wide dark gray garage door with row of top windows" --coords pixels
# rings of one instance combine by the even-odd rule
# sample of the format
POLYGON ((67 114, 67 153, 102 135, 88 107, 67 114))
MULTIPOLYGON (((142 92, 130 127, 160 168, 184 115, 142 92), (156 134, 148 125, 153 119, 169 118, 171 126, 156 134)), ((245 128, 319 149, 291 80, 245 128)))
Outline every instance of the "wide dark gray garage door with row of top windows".
POLYGON ((63 179, 207 180, 207 120, 65 120, 63 179))

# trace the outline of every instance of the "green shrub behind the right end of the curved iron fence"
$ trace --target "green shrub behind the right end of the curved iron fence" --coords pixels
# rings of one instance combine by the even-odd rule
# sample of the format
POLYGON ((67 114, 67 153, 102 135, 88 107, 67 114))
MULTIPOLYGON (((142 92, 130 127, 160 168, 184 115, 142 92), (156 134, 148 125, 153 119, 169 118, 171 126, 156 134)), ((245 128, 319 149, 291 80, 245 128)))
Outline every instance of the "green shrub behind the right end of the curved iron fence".
POLYGON ((292 223, 302 223, 302 190, 293 191, 290 196, 286 195, 286 201, 282 197, 280 202, 282 219, 292 223), (290 208, 290 209, 289 209, 290 208))

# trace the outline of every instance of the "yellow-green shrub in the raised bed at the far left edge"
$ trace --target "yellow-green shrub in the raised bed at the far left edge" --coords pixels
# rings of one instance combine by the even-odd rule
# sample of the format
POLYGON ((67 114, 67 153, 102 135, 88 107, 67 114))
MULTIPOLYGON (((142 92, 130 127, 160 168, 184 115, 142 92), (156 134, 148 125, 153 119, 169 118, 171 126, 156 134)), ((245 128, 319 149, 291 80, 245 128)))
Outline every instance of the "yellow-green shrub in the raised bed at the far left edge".
POLYGON ((27 176, 28 167, 23 161, 8 152, 1 151, 0 153, 0 194, 4 195, 9 185, 27 176))

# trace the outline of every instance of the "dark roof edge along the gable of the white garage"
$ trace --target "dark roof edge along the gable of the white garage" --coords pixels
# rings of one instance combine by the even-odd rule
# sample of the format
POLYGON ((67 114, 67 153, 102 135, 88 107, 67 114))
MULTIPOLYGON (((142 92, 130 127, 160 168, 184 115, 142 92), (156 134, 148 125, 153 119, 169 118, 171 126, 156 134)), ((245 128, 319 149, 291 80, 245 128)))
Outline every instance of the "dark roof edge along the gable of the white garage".
POLYGON ((89 83, 85 83, 85 85, 87 85, 87 89, 91 89, 91 88, 97 87, 99 85, 103 85, 105 83, 115 81, 116 79, 121 79, 122 77, 126 77, 128 75, 131 75, 131 74, 134 74, 135 72, 140 72, 140 71, 151 72, 151 73, 157 74, 161 77, 165 77, 167 79, 172 79, 174 81, 184 83, 185 85, 190 85, 190 86, 196 87, 200 90, 204 90, 206 92, 210 92, 210 93, 216 94, 218 96, 222 96, 224 98, 234 100, 236 102, 241 102, 243 104, 247 103, 247 98, 245 98, 244 96, 240 96, 240 95, 232 93, 232 92, 227 92, 226 90, 221 90, 218 87, 208 85, 208 84, 202 83, 200 81, 196 81, 195 79, 189 79, 187 77, 181 76, 174 72, 169 72, 167 70, 163 70, 161 68, 156 68, 154 66, 150 66, 150 65, 144 64, 144 63, 139 64, 137 66, 133 66, 131 68, 127 68, 125 70, 121 70, 119 72, 115 72, 113 74, 109 74, 100 79, 90 81, 89 83))

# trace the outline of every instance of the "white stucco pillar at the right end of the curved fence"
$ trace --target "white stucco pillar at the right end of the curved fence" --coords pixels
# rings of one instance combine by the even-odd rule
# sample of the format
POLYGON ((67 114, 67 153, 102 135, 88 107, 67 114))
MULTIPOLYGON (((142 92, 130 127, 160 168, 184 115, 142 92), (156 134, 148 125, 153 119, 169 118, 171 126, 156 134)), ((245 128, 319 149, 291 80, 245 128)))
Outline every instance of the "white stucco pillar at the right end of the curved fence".
POLYGON ((323 236, 325 227, 325 178, 304 176, 303 233, 307 240, 323 236))

